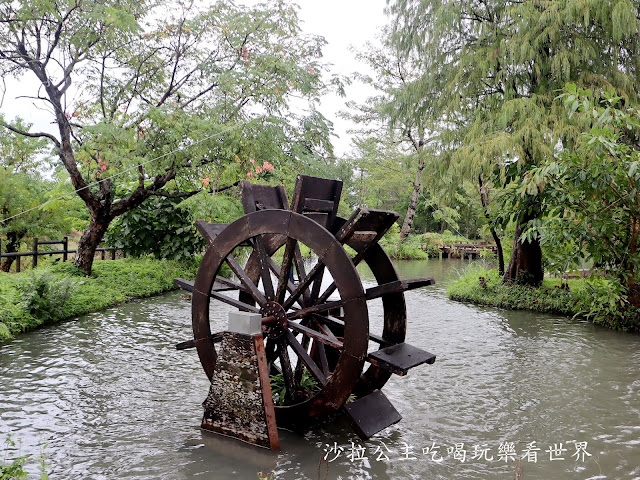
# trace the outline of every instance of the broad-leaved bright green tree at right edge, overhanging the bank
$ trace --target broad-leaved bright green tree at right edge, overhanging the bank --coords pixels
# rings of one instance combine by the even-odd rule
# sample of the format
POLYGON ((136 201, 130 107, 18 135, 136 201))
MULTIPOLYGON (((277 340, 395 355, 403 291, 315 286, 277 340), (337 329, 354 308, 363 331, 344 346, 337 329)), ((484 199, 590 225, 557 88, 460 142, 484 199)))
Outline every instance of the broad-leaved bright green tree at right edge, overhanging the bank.
POLYGON ((640 305, 640 110, 614 93, 568 85, 564 103, 585 133, 558 159, 530 170, 523 193, 544 190, 549 214, 525 232, 552 245, 560 265, 590 260, 640 305))

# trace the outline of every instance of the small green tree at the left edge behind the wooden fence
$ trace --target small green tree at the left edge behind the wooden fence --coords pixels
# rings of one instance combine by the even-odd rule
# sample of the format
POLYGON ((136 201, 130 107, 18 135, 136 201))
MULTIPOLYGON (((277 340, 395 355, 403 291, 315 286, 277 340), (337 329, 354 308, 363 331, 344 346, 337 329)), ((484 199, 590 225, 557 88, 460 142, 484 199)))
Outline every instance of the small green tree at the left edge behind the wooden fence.
MULTIPOLYGON (((31 128, 19 118, 13 126, 24 131, 31 128)), ((43 139, 13 132, 0 137, 0 234, 5 240, 5 253, 18 252, 26 237, 58 235, 69 230, 58 203, 32 210, 50 200, 52 182, 43 180, 37 170, 37 158, 45 154, 45 145, 43 139)), ((5 258, 0 270, 8 272, 14 260, 5 258)))

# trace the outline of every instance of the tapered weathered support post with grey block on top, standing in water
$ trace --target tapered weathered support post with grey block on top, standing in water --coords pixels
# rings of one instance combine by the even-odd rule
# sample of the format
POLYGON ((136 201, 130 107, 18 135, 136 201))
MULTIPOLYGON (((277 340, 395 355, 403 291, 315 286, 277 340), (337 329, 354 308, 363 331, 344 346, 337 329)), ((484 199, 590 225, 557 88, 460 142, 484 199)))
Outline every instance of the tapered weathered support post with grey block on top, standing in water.
POLYGON ((271 450, 280 448, 260 314, 229 313, 229 330, 222 334, 203 406, 203 429, 271 450))

